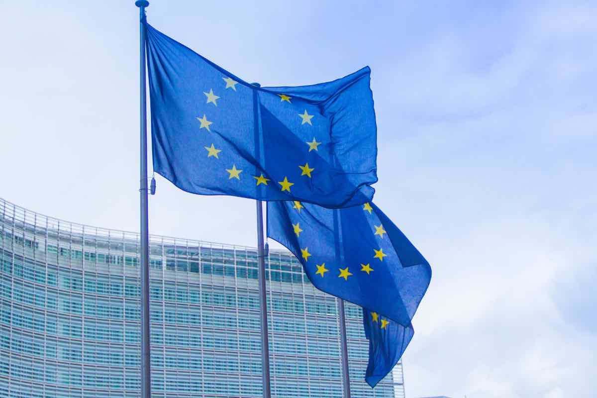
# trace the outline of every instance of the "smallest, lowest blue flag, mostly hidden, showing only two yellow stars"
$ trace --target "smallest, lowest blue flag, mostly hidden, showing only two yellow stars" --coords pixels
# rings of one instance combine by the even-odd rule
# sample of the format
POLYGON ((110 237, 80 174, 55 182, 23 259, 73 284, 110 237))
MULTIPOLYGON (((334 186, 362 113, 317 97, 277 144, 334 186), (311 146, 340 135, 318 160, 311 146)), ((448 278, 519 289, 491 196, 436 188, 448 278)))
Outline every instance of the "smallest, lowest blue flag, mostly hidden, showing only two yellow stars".
POLYGON ((363 308, 363 326, 369 340, 369 362, 365 381, 371 387, 396 366, 414 335, 412 325, 402 326, 363 308))

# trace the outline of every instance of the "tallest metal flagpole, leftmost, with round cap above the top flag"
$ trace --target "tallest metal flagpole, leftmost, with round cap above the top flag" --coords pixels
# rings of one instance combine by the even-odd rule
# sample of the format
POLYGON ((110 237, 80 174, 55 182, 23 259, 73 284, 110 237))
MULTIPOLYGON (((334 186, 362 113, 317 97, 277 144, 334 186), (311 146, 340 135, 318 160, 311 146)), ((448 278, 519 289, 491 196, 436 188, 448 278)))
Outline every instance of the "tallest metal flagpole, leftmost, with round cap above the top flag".
POLYGON ((141 207, 141 398, 151 396, 151 362, 149 345, 149 227, 147 222, 147 98, 145 92, 145 8, 149 1, 137 0, 139 7, 140 55, 140 207, 141 207))

